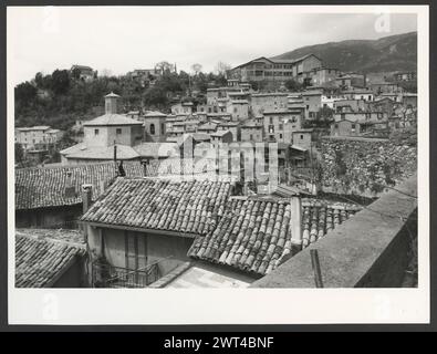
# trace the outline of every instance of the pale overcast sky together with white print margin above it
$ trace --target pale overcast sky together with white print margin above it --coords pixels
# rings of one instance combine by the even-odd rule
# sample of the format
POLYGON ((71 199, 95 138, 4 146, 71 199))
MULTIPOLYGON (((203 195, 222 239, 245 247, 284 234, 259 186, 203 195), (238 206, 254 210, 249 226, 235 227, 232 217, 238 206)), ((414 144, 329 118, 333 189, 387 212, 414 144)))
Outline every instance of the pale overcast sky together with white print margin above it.
POLYGON ((387 24, 379 8, 366 14, 292 7, 9 8, 8 73, 17 84, 72 64, 123 74, 163 60, 178 70, 200 63, 212 71, 218 61, 233 66, 304 45, 416 29, 416 14, 389 14, 387 24))

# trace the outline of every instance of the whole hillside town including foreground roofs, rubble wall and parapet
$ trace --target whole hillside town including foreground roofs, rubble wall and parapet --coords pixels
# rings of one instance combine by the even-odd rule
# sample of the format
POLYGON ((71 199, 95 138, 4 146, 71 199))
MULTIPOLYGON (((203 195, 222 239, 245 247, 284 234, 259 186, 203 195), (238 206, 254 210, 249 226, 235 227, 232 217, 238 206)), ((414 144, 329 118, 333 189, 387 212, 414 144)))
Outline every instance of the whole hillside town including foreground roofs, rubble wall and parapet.
MULTIPOLYGON (((126 77, 148 87, 165 70, 126 77)), ((77 64, 70 74, 97 77, 77 64)), ((261 56, 165 107, 113 90, 67 131, 15 127, 15 287, 292 288, 314 283, 292 267, 308 251, 336 259, 347 247, 367 268, 343 285, 417 285, 418 97, 405 85, 416 80, 261 56), (394 221, 376 219, 387 212, 394 221), (326 256, 341 238, 353 240, 326 256), (398 262, 379 281, 388 243, 398 262)))

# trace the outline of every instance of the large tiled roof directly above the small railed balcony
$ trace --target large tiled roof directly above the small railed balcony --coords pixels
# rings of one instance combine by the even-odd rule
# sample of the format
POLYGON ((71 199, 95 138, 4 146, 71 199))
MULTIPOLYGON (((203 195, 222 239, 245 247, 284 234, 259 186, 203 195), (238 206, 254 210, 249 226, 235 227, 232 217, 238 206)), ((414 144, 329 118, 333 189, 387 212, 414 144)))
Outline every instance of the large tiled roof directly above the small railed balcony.
POLYGON ((205 235, 223 214, 230 183, 118 178, 82 221, 205 235))

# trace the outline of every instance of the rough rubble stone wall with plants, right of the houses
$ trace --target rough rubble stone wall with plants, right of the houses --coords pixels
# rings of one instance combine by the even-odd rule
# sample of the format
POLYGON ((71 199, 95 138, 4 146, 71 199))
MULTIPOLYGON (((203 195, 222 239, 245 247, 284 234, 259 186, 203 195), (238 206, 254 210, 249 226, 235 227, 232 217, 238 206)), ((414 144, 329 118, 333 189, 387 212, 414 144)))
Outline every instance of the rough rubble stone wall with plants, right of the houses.
POLYGON ((323 138, 320 149, 323 191, 376 197, 417 170, 417 146, 405 140, 323 138))

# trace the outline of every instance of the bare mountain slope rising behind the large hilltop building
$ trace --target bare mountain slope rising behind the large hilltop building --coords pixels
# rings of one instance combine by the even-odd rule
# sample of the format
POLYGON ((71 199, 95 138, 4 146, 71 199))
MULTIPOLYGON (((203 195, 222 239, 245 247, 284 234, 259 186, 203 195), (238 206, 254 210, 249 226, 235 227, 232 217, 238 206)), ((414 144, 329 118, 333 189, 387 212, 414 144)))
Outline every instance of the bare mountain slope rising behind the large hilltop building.
POLYGON ((384 37, 378 40, 347 40, 308 45, 273 59, 298 59, 314 53, 325 66, 341 71, 416 71, 417 32, 384 37))

